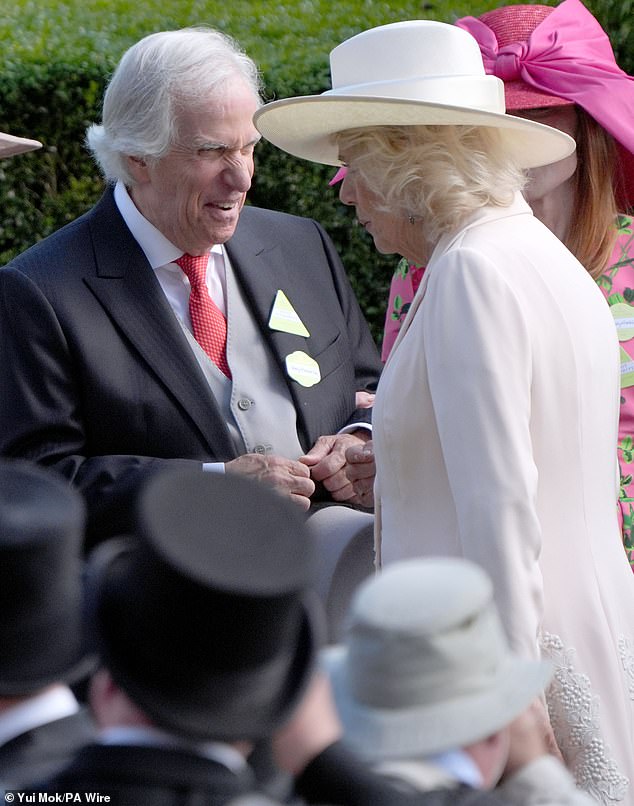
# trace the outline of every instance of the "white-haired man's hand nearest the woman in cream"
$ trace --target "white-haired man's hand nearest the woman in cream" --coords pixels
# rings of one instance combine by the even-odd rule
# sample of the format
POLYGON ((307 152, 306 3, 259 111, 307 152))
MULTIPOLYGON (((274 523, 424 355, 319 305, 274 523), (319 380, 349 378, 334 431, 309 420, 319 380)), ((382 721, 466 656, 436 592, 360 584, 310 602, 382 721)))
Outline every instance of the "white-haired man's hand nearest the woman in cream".
POLYGON ((299 457, 299 461, 310 468, 311 478, 321 481, 334 501, 366 507, 366 500, 357 494, 348 477, 346 452, 362 448, 370 436, 367 429, 360 428, 352 434, 319 437, 310 451, 299 457))

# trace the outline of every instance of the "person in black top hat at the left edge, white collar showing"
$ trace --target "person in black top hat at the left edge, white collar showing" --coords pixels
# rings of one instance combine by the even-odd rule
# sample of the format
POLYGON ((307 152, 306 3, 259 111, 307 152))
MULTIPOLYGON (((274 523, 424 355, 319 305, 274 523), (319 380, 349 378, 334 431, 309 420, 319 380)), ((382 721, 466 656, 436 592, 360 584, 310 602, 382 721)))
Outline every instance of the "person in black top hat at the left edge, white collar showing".
POLYGON ((69 683, 81 644, 81 496, 52 471, 0 461, 0 791, 53 774, 93 735, 69 683))

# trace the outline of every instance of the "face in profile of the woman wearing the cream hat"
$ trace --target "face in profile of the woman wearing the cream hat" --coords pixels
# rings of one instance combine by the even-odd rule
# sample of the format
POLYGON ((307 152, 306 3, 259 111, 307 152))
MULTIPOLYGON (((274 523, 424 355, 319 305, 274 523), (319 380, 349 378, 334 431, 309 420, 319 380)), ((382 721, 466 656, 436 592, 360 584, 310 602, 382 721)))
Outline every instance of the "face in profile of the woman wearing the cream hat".
MULTIPOLYGON (((346 161, 344 155, 341 159, 346 161)), ((396 253, 413 262, 420 260, 420 222, 411 224, 407 216, 384 210, 378 196, 355 172, 354 163, 348 165, 339 188, 339 198, 344 204, 355 208, 357 220, 374 239, 378 252, 384 255, 396 253)))

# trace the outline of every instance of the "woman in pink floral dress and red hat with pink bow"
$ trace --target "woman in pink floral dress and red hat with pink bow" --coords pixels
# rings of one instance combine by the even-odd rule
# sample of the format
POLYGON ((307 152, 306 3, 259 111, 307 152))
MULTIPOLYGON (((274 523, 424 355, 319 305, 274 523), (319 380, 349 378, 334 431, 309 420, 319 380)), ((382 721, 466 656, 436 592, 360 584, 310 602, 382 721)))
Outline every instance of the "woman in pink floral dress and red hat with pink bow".
POLYGON ((621 345, 619 517, 634 570, 634 78, 580 2, 513 5, 456 25, 478 41, 487 73, 504 81, 513 115, 567 131, 577 152, 531 171, 524 195, 586 267, 610 305, 621 345))

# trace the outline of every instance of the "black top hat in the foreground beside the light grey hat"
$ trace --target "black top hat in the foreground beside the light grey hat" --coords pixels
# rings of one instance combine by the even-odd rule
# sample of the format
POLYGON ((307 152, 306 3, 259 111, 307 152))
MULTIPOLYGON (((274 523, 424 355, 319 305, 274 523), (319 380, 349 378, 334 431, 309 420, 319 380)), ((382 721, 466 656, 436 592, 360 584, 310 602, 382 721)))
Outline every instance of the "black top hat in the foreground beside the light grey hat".
POLYGON ((170 469, 141 491, 136 532, 90 558, 103 665, 173 732, 269 735, 316 651, 304 513, 239 476, 170 469))

